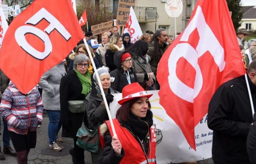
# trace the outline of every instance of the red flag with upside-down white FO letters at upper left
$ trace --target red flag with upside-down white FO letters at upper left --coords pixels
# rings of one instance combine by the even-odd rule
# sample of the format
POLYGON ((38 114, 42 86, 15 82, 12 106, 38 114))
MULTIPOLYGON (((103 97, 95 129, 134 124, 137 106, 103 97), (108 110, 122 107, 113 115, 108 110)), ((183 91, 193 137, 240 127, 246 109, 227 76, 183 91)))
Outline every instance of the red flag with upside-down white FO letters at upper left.
POLYGON ((83 38, 70 0, 35 0, 9 26, 0 50, 0 68, 27 93, 83 38))

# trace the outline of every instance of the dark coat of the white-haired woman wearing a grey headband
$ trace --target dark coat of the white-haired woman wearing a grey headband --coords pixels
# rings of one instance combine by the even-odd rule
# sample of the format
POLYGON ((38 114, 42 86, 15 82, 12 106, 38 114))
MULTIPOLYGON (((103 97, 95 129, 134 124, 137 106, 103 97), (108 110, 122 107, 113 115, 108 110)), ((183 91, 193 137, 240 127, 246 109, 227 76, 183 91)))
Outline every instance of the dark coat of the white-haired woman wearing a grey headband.
MULTIPOLYGON (((118 92, 110 88, 109 93, 118 92)), ((104 121, 109 120, 103 98, 98 94, 95 85, 93 85, 91 92, 86 96, 84 103, 90 129, 97 130, 98 123, 102 124, 104 121)))

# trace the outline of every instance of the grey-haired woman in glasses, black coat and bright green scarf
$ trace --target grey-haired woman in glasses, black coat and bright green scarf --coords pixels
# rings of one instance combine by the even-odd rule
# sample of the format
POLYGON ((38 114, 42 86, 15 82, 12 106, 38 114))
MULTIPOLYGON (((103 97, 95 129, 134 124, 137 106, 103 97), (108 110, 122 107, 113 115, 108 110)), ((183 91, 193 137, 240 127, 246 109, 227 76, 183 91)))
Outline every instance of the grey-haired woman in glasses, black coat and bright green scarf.
POLYGON ((74 58, 73 70, 60 81, 60 112, 62 137, 73 138, 74 148, 69 149, 73 163, 84 164, 84 149, 76 145, 76 133, 82 125, 84 98, 91 91, 89 58, 79 54, 74 58))

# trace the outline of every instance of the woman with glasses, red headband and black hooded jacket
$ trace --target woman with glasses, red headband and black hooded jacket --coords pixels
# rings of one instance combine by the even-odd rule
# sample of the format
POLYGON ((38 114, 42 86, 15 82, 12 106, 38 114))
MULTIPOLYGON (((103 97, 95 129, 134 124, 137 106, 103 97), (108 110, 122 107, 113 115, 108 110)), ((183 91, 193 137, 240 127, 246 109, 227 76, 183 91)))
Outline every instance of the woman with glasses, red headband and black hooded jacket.
POLYGON ((137 82, 137 76, 132 68, 132 58, 127 51, 117 51, 114 54, 114 64, 117 69, 110 72, 111 87, 122 92, 123 87, 137 82))

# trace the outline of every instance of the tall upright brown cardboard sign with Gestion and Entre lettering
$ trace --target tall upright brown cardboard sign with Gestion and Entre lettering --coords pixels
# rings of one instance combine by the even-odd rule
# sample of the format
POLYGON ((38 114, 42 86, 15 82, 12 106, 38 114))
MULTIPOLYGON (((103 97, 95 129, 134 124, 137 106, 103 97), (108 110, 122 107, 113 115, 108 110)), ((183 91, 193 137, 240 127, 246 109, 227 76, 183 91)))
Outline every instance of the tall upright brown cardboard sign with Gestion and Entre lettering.
POLYGON ((119 0, 118 1, 117 16, 116 16, 118 26, 126 25, 126 22, 129 18, 131 6, 134 8, 135 0, 119 0))

